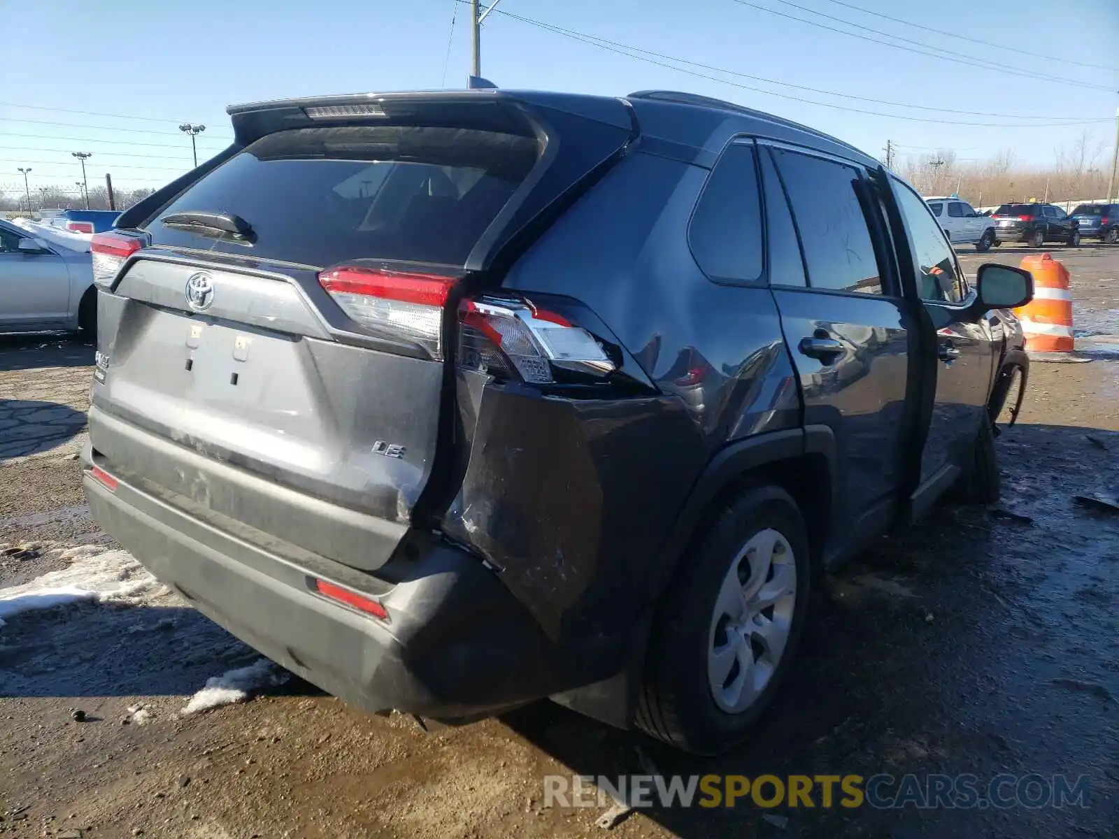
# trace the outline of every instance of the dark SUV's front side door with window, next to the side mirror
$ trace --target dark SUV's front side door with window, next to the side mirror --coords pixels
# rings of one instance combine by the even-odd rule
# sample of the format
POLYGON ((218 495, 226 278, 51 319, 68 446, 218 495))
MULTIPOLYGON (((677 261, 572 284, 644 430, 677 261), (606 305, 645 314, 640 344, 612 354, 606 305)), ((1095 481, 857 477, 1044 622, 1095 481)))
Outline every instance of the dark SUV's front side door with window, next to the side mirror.
POLYGON ((937 384, 921 458, 922 487, 930 501, 970 462, 979 423, 986 416, 994 347, 986 319, 965 317, 972 292, 956 254, 920 196, 893 179, 894 197, 913 254, 918 296, 937 331, 937 384))

